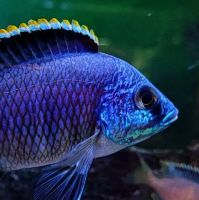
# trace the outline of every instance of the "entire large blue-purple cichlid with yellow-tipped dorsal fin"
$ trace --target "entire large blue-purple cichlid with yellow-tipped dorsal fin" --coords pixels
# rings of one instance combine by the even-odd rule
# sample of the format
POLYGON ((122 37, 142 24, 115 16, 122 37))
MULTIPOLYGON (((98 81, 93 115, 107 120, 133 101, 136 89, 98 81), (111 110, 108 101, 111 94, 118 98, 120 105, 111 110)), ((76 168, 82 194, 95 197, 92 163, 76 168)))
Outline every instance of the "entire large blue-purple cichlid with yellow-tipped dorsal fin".
POLYGON ((177 119, 175 106, 125 61, 98 52, 75 20, 0 30, 0 168, 47 166, 34 199, 80 199, 94 158, 177 119))

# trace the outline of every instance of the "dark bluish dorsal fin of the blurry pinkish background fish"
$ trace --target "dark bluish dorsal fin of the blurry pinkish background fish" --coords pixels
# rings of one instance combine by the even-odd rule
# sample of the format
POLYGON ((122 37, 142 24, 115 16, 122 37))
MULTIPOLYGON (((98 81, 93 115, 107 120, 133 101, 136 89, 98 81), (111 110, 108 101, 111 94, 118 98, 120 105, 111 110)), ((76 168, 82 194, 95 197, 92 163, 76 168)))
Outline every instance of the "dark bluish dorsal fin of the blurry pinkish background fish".
POLYGON ((163 175, 178 177, 199 183, 199 168, 183 163, 161 161, 163 175))

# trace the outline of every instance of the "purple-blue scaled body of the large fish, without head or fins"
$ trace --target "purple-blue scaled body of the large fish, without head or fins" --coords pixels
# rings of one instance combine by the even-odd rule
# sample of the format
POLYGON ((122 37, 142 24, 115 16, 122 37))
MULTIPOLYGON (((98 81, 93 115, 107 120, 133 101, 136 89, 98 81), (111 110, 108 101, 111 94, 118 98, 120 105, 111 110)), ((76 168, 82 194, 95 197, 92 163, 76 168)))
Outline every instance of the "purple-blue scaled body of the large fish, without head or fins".
POLYGON ((23 63, 1 73, 1 167, 10 170, 61 160, 90 137, 103 88, 116 66, 108 55, 85 53, 23 63))

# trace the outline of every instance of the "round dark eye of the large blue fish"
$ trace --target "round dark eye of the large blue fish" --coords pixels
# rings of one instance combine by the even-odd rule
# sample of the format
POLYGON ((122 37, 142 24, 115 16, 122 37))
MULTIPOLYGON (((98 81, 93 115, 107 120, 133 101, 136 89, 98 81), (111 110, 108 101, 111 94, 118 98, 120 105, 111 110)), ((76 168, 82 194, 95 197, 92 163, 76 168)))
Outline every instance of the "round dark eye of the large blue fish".
POLYGON ((150 109, 157 103, 157 95, 149 87, 139 89, 135 102, 140 109, 150 109))

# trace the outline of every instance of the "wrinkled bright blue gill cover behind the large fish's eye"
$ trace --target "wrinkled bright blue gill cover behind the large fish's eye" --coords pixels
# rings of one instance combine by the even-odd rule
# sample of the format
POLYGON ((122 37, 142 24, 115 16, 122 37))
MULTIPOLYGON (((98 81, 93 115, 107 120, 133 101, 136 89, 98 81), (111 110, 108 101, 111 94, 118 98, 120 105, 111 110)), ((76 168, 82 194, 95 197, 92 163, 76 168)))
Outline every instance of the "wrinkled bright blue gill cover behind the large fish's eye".
POLYGON ((104 95, 100 110, 100 120, 105 136, 116 144, 128 143, 125 133, 131 125, 131 118, 127 110, 130 104, 127 103, 126 92, 115 91, 104 95))

